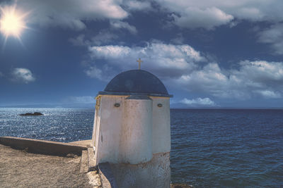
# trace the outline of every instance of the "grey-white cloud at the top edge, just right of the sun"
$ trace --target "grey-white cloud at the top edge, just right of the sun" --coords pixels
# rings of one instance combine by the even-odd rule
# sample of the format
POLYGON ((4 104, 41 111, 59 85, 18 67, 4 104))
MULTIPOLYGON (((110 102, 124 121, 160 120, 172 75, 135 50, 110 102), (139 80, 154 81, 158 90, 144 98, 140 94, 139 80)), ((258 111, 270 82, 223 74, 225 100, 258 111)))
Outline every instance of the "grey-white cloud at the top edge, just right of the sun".
POLYGON ((86 20, 123 19, 128 16, 122 8, 122 1, 115 0, 25 0, 17 1, 17 4, 25 11, 31 11, 29 23, 73 30, 86 28, 86 20))

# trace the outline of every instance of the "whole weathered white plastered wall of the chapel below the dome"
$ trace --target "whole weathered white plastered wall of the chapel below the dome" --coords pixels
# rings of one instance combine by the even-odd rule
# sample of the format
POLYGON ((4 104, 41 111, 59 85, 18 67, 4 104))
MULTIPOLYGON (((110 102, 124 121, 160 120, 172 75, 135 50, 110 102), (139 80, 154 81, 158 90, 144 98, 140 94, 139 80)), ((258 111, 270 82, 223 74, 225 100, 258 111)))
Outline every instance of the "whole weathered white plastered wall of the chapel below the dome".
POLYGON ((145 163, 153 153, 171 151, 168 97, 126 99, 100 95, 93 125, 96 163, 145 163), (115 107, 115 104, 120 107, 115 107), (162 104, 158 107, 158 104, 162 104))

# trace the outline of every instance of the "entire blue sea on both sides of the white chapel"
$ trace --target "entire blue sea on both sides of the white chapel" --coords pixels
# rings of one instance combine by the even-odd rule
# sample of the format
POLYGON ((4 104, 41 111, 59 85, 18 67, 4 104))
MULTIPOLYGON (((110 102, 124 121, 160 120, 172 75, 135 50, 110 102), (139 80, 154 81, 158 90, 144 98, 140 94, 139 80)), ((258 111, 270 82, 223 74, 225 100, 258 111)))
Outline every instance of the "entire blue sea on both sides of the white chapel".
MULTIPOLYGON (((91 139, 93 118, 91 108, 0 108, 0 137, 91 139)), ((283 110, 171 109, 171 181, 283 187, 283 110)))

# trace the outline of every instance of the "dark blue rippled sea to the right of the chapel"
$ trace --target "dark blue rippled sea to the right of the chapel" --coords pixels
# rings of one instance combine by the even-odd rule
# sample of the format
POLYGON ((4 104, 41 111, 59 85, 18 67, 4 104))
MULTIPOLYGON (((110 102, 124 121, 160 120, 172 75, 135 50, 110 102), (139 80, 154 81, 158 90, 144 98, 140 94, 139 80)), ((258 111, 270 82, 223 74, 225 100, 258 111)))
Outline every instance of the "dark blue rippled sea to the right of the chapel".
POLYGON ((283 110, 172 110, 173 182, 283 187, 283 110))

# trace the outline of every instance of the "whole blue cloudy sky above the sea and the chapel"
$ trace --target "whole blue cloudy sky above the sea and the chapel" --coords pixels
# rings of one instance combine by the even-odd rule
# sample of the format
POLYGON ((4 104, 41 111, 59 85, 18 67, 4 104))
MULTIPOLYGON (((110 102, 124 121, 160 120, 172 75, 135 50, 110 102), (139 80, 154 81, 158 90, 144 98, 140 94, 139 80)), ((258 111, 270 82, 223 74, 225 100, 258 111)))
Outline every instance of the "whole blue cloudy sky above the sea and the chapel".
POLYGON ((281 0, 0 6, 0 106, 93 106, 141 58, 173 94, 173 108, 283 107, 281 0), (7 15, 20 26, 7 31, 7 15))

